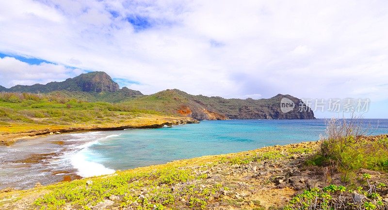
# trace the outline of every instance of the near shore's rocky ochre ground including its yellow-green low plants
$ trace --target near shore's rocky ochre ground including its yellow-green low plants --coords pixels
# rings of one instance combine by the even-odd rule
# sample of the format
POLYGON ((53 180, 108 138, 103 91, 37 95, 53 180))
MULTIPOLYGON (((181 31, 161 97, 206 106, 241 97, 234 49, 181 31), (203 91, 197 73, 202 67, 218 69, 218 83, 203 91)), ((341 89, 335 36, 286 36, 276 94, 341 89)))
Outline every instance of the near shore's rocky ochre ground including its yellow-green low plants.
MULTIPOLYGON (((318 144, 266 147, 118 171, 27 191, 3 190, 0 208, 282 209, 292 196, 305 189, 341 182, 339 175, 328 175, 329 169, 305 164, 318 144), (67 191, 73 191, 71 196, 67 191), (96 195, 98 191, 101 193, 96 195)), ((372 175, 371 180, 387 181, 385 173, 361 169, 357 174, 366 172, 372 175)))

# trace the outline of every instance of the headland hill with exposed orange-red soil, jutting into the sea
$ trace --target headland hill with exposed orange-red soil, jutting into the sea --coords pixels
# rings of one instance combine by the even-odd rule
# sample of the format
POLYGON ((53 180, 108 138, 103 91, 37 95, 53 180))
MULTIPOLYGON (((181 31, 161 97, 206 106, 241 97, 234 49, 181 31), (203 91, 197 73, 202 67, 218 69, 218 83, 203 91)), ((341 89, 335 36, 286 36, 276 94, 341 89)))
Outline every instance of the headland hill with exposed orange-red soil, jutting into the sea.
POLYGON ((181 90, 163 90, 152 95, 135 98, 129 101, 139 109, 149 109, 167 114, 179 114, 197 120, 226 119, 315 119, 311 110, 299 112, 300 99, 291 95, 278 94, 269 99, 225 99, 190 95, 181 90), (280 101, 283 97, 290 99, 296 106, 283 113, 280 101))

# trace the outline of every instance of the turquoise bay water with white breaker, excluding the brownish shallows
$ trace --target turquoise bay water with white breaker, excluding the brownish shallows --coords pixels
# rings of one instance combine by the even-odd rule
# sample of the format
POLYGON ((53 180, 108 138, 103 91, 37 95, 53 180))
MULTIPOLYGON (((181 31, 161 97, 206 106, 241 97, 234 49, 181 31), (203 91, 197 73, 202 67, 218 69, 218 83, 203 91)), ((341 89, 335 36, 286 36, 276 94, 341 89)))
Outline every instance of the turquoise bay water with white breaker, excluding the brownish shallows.
MULTIPOLYGON (((388 120, 367 120, 373 134, 388 133, 388 120)), ((172 160, 315 141, 324 120, 211 120, 172 128, 114 131, 89 147, 89 160, 114 170, 172 160)))

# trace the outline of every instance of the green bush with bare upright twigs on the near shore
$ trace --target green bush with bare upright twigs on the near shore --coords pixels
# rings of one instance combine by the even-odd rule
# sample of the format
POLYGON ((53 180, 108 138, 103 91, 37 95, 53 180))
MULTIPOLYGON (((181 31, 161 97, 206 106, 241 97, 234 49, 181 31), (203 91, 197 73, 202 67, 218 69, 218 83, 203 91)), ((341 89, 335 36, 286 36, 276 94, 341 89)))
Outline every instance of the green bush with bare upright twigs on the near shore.
POLYGON ((330 120, 319 151, 307 165, 330 165, 345 173, 359 168, 388 171, 386 139, 369 140, 363 130, 360 118, 330 120))

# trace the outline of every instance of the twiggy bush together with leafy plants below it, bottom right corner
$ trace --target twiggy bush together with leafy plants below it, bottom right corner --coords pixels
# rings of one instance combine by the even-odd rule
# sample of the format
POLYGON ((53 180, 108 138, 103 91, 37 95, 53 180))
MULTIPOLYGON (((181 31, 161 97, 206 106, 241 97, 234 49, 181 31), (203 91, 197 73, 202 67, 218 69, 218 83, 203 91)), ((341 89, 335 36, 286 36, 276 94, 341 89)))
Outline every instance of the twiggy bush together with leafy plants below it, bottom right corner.
POLYGON ((324 168, 328 184, 336 182, 331 177, 339 175, 340 185, 306 190, 293 197, 284 209, 386 209, 388 199, 383 200, 383 196, 387 195, 387 184, 379 180, 385 180, 388 172, 388 135, 365 136, 369 129, 357 117, 328 121, 326 136, 306 164, 324 168), (357 172, 365 169, 384 175, 378 173, 374 181, 369 173, 357 177, 357 172))

